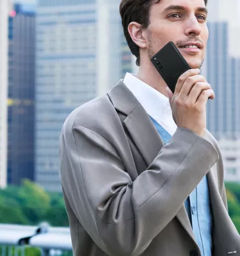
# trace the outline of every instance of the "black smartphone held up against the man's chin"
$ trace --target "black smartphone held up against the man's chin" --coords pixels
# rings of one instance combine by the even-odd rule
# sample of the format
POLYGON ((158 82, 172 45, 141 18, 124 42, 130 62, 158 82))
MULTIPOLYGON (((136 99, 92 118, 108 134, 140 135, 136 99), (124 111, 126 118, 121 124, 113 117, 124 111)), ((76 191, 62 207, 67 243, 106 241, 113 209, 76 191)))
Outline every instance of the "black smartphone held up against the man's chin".
POLYGON ((173 42, 169 42, 152 56, 151 61, 173 93, 179 77, 190 69, 187 61, 173 42))

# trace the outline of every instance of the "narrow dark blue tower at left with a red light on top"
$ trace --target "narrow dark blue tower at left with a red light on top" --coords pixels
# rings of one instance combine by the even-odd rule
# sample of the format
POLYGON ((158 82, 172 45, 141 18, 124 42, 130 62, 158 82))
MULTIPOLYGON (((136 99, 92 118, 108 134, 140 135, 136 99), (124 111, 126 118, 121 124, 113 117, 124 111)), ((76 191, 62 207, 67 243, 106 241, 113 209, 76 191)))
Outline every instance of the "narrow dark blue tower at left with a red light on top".
POLYGON ((9 17, 8 184, 34 179, 35 12, 15 4, 9 17))

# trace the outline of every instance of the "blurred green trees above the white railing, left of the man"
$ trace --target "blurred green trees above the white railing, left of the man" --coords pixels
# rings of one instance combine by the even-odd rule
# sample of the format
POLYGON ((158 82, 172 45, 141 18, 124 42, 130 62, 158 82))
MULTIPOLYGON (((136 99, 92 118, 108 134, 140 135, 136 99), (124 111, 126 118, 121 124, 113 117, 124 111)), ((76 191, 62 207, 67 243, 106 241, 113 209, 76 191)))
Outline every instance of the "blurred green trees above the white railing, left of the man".
POLYGON ((68 218, 61 193, 47 193, 29 180, 22 186, 0 189, 0 223, 68 227, 68 218))

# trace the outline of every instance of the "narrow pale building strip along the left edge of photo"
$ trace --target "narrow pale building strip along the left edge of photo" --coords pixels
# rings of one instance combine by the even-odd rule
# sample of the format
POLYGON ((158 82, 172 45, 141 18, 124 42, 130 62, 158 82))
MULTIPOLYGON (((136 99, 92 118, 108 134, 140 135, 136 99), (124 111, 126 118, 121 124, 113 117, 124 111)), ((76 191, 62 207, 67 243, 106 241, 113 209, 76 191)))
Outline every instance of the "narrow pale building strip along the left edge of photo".
POLYGON ((0 188, 6 187, 7 90, 8 90, 8 13, 11 2, 0 0, 0 188))

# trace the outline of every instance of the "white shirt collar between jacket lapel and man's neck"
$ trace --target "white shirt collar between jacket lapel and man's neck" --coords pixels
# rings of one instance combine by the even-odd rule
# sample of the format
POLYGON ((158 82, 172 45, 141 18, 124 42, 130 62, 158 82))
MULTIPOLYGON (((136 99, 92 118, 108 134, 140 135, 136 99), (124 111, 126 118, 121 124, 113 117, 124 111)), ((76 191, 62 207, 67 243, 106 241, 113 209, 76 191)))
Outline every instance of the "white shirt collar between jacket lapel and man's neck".
POLYGON ((173 120, 168 98, 130 73, 125 75, 124 84, 131 90, 148 115, 173 135, 177 130, 177 125, 173 120))

